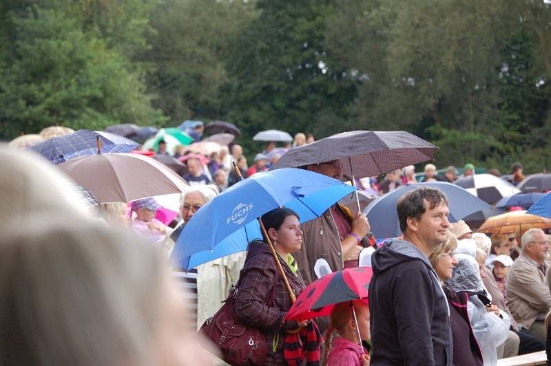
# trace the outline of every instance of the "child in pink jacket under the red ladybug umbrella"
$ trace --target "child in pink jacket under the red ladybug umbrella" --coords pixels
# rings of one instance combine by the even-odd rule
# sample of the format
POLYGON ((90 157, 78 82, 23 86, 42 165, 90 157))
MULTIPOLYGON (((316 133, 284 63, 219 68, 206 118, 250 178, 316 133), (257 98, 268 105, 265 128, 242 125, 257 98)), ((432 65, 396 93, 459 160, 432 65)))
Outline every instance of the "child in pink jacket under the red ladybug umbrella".
POLYGON ((360 336, 354 321, 352 309, 355 310, 360 336, 369 341, 369 308, 366 301, 357 300, 338 303, 331 312, 331 325, 325 332, 324 366, 368 366, 367 349, 360 343, 360 336), (353 304, 353 305, 352 305, 353 304), (331 345, 331 334, 333 345, 331 345), (331 348, 331 350, 329 350, 331 348))

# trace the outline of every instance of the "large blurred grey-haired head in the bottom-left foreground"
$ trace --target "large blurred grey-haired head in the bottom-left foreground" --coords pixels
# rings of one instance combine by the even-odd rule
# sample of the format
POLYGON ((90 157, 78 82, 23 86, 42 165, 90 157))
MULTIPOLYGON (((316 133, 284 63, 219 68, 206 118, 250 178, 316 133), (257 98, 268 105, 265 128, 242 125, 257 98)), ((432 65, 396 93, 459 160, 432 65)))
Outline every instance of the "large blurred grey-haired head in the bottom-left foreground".
POLYGON ((208 365, 158 252, 74 217, 29 213, 0 238, 1 365, 208 365))

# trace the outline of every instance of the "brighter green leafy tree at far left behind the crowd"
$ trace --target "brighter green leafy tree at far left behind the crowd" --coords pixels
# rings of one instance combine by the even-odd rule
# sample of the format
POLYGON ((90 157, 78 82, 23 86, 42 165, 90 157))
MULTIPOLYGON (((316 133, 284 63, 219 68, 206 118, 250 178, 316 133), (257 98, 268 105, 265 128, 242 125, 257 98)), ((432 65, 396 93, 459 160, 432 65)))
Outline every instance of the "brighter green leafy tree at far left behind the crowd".
POLYGON ((12 51, 0 69, 0 136, 54 124, 101 129, 161 117, 127 58, 61 10, 33 6, 22 16, 13 13, 10 23, 12 51))

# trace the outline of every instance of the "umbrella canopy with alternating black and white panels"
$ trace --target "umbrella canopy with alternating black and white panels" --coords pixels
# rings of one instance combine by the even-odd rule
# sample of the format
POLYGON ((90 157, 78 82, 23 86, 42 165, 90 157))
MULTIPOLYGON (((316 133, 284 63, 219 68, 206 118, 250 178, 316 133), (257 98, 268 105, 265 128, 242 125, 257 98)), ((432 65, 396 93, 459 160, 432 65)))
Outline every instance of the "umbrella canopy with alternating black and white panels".
POLYGON ((501 198, 520 193, 517 187, 491 174, 475 174, 459 178, 455 184, 466 189, 484 202, 495 204, 501 198))

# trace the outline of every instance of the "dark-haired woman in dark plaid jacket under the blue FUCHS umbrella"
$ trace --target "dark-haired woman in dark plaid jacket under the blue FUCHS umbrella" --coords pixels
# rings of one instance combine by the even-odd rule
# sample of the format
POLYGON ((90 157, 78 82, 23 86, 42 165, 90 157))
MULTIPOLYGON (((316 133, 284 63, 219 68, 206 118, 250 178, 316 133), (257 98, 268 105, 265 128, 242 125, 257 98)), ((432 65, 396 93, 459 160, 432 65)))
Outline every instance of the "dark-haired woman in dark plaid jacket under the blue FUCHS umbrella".
MULTIPOLYGON (((295 296, 298 296, 305 287, 297 263, 291 256, 302 245, 298 215, 288 208, 276 208, 262 215, 262 223, 271 238, 289 284, 295 296)), ((236 295, 235 312, 243 322, 264 330, 269 345, 264 365, 282 365, 285 331, 304 326, 306 321, 284 321, 292 303, 271 250, 264 241, 252 241, 249 244, 245 266, 240 273, 241 283, 236 295), (267 303, 273 286, 273 301, 267 303)))

